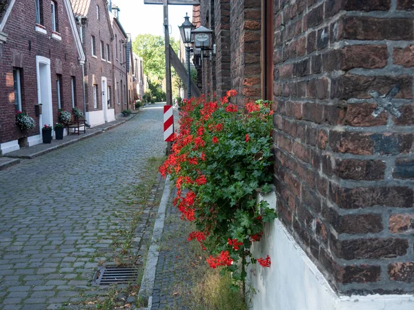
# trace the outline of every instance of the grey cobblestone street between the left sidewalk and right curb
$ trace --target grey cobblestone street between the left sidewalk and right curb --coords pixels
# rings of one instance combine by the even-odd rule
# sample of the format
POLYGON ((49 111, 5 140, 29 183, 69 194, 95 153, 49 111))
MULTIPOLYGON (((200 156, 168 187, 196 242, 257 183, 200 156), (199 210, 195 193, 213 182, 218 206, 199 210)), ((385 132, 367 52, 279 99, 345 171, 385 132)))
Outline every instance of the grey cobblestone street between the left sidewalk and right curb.
POLYGON ((161 107, 0 172, 0 309, 66 309, 97 292, 90 280, 128 225, 125 193, 165 153, 161 107))

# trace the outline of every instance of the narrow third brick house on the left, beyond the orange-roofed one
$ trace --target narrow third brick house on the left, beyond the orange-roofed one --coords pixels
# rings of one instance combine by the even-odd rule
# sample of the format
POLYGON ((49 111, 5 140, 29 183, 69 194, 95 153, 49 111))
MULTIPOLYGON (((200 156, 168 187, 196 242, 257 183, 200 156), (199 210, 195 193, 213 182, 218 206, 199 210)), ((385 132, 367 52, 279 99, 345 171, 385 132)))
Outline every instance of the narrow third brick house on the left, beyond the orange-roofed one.
POLYGON ((119 22, 119 8, 117 6, 112 6, 110 3, 110 19, 112 23, 112 31, 114 33, 114 41, 112 48, 114 50, 113 57, 113 72, 114 72, 114 85, 115 85, 115 115, 121 114, 122 110, 126 110, 127 103, 127 92, 126 92, 126 41, 128 36, 122 28, 121 23, 119 22))

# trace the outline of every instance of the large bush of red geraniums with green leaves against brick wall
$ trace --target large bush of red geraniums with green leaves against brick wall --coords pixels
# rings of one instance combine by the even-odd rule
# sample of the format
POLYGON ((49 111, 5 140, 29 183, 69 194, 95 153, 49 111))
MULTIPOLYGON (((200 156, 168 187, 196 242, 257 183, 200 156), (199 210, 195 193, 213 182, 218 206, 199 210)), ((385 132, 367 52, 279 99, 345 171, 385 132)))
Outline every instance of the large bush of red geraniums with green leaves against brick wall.
POLYGON ((262 100, 238 110, 229 102, 235 94, 184 101, 172 153, 159 171, 175 181, 181 219, 196 224, 188 240, 208 249, 210 267, 224 266, 244 281, 249 263, 270 267, 270 258, 257 260, 250 246, 262 237, 264 223, 276 218, 266 202, 257 206, 258 190, 269 192, 272 182, 273 111, 262 100), (242 262, 241 270, 233 262, 242 262))

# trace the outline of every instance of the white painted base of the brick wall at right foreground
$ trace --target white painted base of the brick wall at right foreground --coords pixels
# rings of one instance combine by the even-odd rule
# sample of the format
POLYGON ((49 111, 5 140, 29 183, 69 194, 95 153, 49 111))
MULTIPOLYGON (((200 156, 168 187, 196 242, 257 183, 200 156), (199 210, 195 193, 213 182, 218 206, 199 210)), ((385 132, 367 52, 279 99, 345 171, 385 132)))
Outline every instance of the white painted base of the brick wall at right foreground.
MULTIPOLYGON (((274 198, 270 207, 275 207, 274 198)), ((268 199, 266 199, 268 200, 268 199)), ((270 202, 270 201, 269 201, 270 202)), ((338 296, 280 220, 266 224, 255 258, 270 256, 272 265, 250 265, 248 282, 257 293, 253 310, 413 310, 414 296, 338 296)))

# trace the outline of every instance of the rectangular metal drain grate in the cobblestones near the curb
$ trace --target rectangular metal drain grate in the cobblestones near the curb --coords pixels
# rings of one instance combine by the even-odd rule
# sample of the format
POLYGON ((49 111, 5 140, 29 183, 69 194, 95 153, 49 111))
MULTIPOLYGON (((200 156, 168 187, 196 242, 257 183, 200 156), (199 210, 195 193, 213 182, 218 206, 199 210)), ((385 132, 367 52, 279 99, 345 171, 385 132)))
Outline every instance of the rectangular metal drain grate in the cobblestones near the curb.
POLYGON ((92 285, 111 285, 135 282, 138 278, 136 267, 98 267, 92 285))

